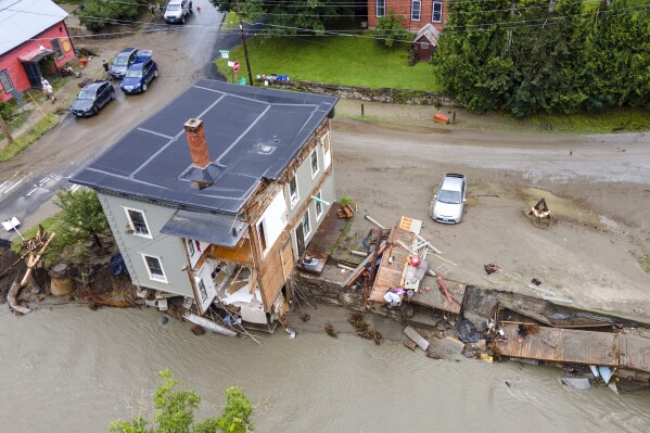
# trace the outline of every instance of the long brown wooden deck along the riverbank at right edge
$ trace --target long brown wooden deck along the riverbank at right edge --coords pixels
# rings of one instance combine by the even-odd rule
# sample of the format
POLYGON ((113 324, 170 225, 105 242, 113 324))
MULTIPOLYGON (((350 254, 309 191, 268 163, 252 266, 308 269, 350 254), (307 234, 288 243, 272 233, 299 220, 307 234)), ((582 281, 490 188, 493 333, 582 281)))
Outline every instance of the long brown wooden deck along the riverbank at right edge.
POLYGON ((518 324, 506 324, 501 355, 591 366, 625 367, 650 372, 650 339, 597 331, 540 327, 519 341, 518 324))

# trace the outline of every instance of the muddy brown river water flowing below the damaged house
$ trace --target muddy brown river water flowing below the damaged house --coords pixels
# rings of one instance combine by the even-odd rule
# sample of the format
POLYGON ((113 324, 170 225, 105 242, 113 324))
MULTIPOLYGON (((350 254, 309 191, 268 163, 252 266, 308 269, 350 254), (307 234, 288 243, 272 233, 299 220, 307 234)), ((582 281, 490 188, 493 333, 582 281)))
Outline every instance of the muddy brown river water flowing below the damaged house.
MULTIPOLYGON (((251 340, 161 326, 155 310, 0 309, 3 432, 102 432, 139 404, 151 407, 156 372, 217 415, 225 390, 243 387, 258 432, 647 432, 650 393, 571 391, 548 367, 442 361, 402 341, 284 332, 251 340), (506 384, 508 382, 510 386, 506 384)), ((395 323, 397 327, 398 324, 395 323)))

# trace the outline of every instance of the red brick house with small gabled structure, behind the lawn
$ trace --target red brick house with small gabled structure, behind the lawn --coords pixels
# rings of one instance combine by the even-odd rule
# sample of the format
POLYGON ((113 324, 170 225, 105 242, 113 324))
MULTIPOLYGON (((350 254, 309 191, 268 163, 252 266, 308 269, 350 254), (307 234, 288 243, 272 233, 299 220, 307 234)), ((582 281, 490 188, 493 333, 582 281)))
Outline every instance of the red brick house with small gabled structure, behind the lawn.
POLYGON ((377 26, 378 20, 390 12, 402 15, 404 28, 416 34, 413 43, 420 59, 428 60, 447 21, 445 3, 445 0, 368 0, 368 26, 377 26))

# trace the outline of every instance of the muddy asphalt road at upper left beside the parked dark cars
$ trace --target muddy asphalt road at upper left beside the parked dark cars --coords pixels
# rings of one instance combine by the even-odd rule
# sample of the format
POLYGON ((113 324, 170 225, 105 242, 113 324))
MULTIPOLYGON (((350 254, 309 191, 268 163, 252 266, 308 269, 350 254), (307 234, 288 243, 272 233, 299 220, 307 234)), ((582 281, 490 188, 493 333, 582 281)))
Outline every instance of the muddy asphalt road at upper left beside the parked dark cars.
MULTIPOLYGON (((208 0, 195 0, 194 12, 184 26, 151 25, 149 31, 120 39, 75 40, 110 58, 122 47, 133 46, 154 51, 160 77, 145 93, 125 95, 114 81, 117 98, 98 116, 61 116, 59 125, 38 143, 9 163, 0 164, 0 221, 16 216, 21 228, 38 224, 53 213, 51 199, 61 188, 78 188, 68 182, 82 166, 113 144, 128 130, 153 115, 161 106, 199 78, 222 79, 212 63, 219 50, 237 46, 235 31, 220 31, 224 21, 208 0), (157 31, 160 30, 160 31, 157 31)), ((0 229, 0 239, 13 231, 0 229)))

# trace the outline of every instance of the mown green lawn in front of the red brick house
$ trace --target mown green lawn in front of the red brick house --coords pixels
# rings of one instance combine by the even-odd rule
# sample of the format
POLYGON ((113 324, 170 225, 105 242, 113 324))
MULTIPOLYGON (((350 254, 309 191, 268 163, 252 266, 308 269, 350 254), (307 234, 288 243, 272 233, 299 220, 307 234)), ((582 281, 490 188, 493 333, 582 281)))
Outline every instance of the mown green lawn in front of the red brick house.
MULTIPOLYGON (((407 64, 408 47, 384 49, 373 39, 343 36, 254 38, 248 42, 248 58, 256 75, 288 75, 290 79, 412 90, 439 90, 431 65, 407 64)), ((230 51, 230 61, 239 61, 239 77, 247 77, 243 48, 230 51)), ((231 71, 226 60, 217 67, 228 79, 231 71)))

